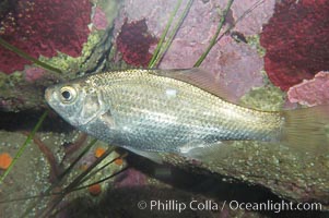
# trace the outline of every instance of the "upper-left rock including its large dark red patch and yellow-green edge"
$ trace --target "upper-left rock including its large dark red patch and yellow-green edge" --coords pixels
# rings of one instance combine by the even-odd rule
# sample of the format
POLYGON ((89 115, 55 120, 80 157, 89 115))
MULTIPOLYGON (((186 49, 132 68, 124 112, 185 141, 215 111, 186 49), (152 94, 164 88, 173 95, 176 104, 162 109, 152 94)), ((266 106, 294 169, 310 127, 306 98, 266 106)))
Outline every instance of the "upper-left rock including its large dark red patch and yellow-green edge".
POLYGON ((0 111, 40 110, 45 87, 99 72, 108 64, 116 1, 94 5, 90 1, 13 1, 5 5, 0 37, 62 73, 42 69, 0 46, 0 111))

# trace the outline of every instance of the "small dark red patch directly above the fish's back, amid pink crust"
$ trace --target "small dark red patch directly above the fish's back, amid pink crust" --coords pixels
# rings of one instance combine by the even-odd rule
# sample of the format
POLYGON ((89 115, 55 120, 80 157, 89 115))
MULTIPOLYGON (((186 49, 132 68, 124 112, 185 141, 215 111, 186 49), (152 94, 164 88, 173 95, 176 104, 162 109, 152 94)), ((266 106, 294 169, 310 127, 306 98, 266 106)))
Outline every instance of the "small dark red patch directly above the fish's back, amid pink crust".
POLYGON ((145 20, 131 23, 127 23, 126 20, 117 37, 117 47, 128 64, 146 66, 152 58, 149 49, 156 41, 157 39, 149 34, 145 20))

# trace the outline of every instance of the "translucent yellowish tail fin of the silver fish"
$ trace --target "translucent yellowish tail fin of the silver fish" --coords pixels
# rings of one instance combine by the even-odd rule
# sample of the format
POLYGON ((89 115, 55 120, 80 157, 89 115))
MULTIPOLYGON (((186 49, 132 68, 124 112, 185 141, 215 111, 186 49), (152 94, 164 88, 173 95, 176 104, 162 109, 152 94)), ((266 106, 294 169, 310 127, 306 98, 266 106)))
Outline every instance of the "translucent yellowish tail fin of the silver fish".
POLYGON ((301 152, 329 153, 329 105, 283 111, 281 142, 301 152))

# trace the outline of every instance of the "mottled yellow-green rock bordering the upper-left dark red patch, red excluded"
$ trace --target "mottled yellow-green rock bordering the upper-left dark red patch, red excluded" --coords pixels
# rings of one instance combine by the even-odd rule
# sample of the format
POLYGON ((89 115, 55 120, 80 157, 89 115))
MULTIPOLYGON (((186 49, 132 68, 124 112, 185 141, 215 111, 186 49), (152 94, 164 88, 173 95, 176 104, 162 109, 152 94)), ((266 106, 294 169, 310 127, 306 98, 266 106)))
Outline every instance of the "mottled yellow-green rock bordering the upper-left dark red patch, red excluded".
MULTIPOLYGON (((8 75, 1 73, 3 69, 0 69, 1 111, 40 110, 45 106, 44 89, 47 86, 62 80, 74 78, 86 73, 96 73, 108 68, 107 61, 111 49, 111 26, 114 17, 117 15, 116 11, 119 2, 106 2, 107 0, 102 0, 94 2, 94 5, 91 4, 93 10, 91 10, 92 14, 90 16, 101 12, 104 13, 103 22, 106 25, 102 24, 105 29, 97 29, 91 23, 87 41, 81 45, 82 49, 79 55, 70 56, 68 52, 57 50, 54 56, 43 56, 43 53, 37 56, 42 62, 59 69, 62 73, 47 71, 36 64, 25 65, 24 70, 8 75), (32 71, 31 69, 37 70, 32 71)), ((56 21, 54 22, 56 23, 56 21)), ((99 17, 97 22, 101 22, 99 17)), ((85 28, 89 27, 85 26, 85 28)))

